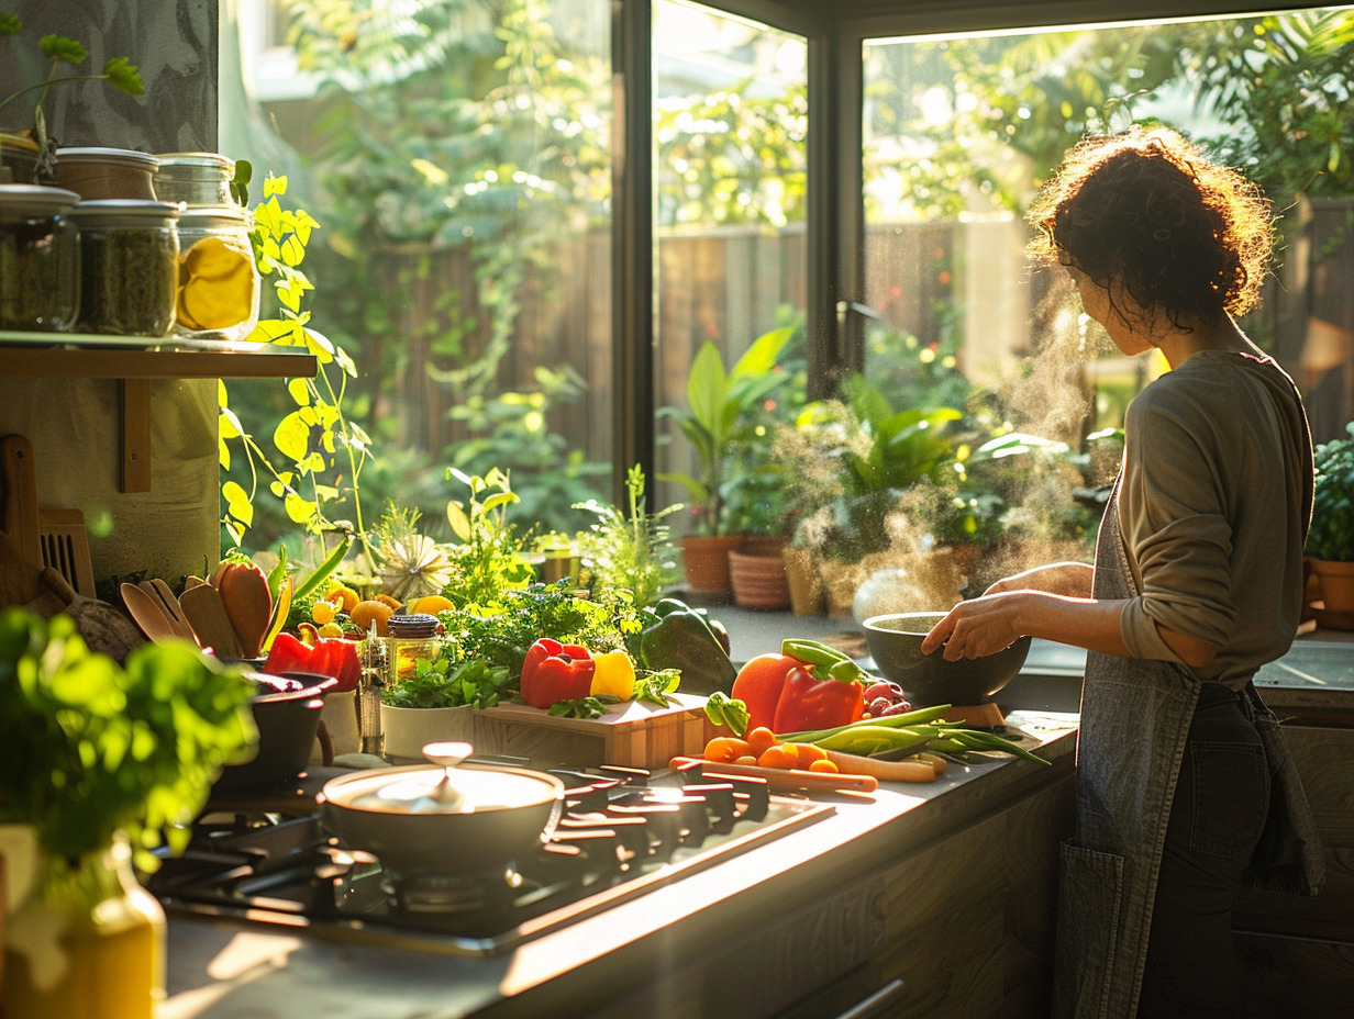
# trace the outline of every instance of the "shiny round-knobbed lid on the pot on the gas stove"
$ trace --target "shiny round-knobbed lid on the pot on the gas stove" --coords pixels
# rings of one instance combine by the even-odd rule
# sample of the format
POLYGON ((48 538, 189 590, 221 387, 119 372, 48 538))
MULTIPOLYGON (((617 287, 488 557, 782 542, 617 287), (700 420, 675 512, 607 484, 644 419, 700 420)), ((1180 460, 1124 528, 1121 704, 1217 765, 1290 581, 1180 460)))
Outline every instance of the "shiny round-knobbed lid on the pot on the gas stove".
POLYGON ((333 807, 363 813, 489 813, 562 800, 565 784, 520 767, 414 765, 332 779, 322 796, 333 807))

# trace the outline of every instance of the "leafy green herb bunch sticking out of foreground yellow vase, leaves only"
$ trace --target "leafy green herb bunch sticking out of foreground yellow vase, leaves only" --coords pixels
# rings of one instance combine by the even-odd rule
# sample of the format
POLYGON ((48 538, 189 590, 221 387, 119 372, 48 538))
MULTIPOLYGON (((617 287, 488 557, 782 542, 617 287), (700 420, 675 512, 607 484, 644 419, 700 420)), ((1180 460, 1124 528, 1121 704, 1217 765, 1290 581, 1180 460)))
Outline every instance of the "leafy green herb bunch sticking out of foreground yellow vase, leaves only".
POLYGON ((218 769, 257 731, 244 673, 185 641, 144 644, 121 667, 68 616, 0 613, 0 820, 34 824, 69 859, 127 832, 138 865, 179 851, 218 769))

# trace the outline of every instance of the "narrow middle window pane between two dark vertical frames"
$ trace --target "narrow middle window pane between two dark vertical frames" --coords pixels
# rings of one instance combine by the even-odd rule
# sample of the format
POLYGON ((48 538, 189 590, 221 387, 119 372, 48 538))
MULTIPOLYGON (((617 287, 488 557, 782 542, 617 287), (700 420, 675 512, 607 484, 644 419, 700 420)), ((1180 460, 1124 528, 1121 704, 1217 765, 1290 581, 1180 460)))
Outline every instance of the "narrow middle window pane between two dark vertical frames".
MULTIPOLYGON (((802 37, 696 4, 654 5, 661 407, 686 407, 688 375, 705 341, 731 368, 758 336, 803 318, 806 96, 802 37)), ((781 359, 791 369, 803 364, 802 333, 781 359)), ((787 391, 758 406, 781 411, 787 391)), ((658 434, 659 471, 708 480, 669 418, 658 434)), ((700 501, 689 490, 668 483, 657 491, 659 505, 689 507, 674 530, 697 529, 700 501)), ((728 509, 718 518, 712 510, 707 529, 753 526, 728 509)))

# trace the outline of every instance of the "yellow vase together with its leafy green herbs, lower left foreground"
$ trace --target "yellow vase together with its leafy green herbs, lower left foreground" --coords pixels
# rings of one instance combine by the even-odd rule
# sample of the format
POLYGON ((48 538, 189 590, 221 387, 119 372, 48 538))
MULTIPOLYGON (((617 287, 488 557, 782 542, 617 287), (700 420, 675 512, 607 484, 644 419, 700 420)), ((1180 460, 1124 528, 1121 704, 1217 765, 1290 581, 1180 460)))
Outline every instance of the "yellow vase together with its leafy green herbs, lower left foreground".
POLYGON ((181 850, 221 766, 253 752, 252 693, 188 641, 142 644, 119 666, 69 616, 0 613, 0 828, 9 880, 31 878, 7 918, 12 1019, 97 1001, 152 1014, 164 913, 133 863, 181 850), (31 859, 15 857, 11 825, 27 825, 31 859))

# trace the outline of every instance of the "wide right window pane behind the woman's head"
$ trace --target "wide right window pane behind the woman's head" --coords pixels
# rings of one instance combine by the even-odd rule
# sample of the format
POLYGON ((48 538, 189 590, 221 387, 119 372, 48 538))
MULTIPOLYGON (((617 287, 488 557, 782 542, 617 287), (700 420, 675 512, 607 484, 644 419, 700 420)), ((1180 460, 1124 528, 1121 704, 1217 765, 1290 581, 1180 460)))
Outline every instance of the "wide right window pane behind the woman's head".
POLYGON ((1074 445, 1120 425, 1164 365, 1089 357, 1098 326, 1028 279, 1021 215, 1083 131, 1159 119, 1265 188, 1282 265, 1243 322, 1304 388, 1320 440, 1350 420, 1354 15, 879 39, 865 47, 867 300, 872 378, 945 398, 953 372, 1011 424, 1074 445), (1294 203, 1300 203, 1294 206, 1294 203))

